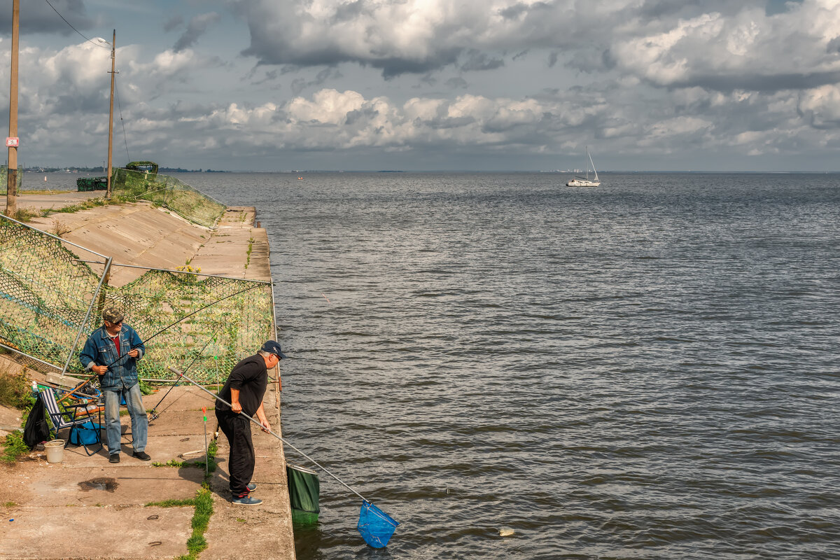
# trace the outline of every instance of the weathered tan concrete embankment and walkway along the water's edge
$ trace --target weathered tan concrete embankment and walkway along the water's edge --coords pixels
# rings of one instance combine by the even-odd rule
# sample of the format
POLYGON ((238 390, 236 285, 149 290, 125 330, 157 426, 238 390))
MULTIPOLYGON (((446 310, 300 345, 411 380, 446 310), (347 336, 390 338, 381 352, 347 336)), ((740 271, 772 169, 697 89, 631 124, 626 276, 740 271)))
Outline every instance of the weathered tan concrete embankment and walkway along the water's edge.
MULTIPOLYGON (((29 202, 21 196, 18 207, 33 207, 29 202)), ((118 264, 174 268, 189 260, 190 266, 200 266, 206 274, 270 280, 268 239, 265 230, 253 227, 255 209, 228 210, 213 230, 146 203, 54 214, 35 218, 31 225, 50 232, 58 221, 62 238, 113 256, 118 264)), ((119 270, 112 283, 127 283, 143 272, 119 270)), ((6 358, 0 356, 0 369, 19 367, 6 358)), ((146 409, 155 408, 166 390, 145 397, 146 409)), ((264 402, 272 429, 281 434, 275 385, 270 384, 264 402)), ((123 436, 124 453, 118 464, 108 463, 104 449, 88 457, 82 447, 66 448, 61 463, 47 463, 43 451, 11 466, 0 463, 0 558, 144 559, 186 554, 194 508, 145 504, 195 497, 204 471, 151 463, 204 458, 205 427, 208 440, 217 429, 213 400, 196 387, 179 386, 157 412, 160 417, 150 423, 146 447, 150 462, 130 456, 129 434, 123 436), (206 423, 202 406, 207 407, 206 423)), ((123 416, 126 431, 130 432, 129 416, 123 416)), ((257 456, 254 495, 263 504, 231 504, 228 442, 221 434, 218 470, 211 483, 214 512, 204 534, 208 546, 199 556, 202 560, 295 557, 282 444, 257 427, 252 432, 257 456)), ((66 431, 61 435, 66 437, 66 431)))

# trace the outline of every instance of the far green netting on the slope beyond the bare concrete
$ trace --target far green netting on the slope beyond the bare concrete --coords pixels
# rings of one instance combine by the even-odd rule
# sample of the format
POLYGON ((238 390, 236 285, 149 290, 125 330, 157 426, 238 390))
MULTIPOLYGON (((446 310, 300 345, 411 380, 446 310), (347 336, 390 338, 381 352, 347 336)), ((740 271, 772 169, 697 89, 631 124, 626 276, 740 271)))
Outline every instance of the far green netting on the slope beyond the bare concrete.
POLYGON ((114 169, 111 190, 113 195, 125 199, 155 202, 207 228, 213 227, 224 212, 221 202, 184 181, 160 173, 114 169))

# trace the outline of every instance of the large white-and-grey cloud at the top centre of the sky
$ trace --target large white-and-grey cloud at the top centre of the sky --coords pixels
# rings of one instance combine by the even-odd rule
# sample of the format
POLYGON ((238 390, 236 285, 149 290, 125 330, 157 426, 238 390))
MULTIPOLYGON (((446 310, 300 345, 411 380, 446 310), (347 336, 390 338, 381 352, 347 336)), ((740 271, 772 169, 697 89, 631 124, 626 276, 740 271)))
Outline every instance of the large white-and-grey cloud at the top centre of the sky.
MULTIPOLYGON (((301 0, 240 0, 234 5, 250 30, 251 42, 242 54, 255 57, 260 65, 355 62, 381 70, 386 79, 449 65, 462 66, 463 71, 494 70, 504 65, 498 54, 474 46, 483 31, 490 36, 495 33, 491 22, 498 16, 485 3, 459 4, 448 11, 450 18, 441 18, 437 3, 417 0, 356 0, 318 4, 317 8, 301 0)), ((548 7, 545 3, 517 4, 512 9, 517 18, 527 19, 548 7)), ((520 43, 522 37, 517 37, 510 46, 520 43)))

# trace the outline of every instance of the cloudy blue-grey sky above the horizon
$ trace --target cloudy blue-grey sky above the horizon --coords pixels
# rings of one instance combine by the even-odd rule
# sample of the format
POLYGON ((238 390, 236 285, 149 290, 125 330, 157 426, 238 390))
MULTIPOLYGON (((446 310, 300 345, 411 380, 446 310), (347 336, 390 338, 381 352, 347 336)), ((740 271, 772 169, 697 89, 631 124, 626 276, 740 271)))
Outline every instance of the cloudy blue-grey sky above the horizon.
POLYGON ((114 29, 114 165, 840 170, 840 0, 24 0, 18 163, 107 159, 114 29))

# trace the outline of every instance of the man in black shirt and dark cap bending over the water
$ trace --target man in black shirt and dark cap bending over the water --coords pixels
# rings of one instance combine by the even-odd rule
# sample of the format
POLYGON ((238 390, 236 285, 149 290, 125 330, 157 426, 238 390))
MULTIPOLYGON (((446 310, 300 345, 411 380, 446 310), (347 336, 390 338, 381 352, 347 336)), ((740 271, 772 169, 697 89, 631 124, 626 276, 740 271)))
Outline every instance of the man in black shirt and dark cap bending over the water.
POLYGON ((240 414, 254 416, 263 427, 263 432, 271 428, 263 409, 263 396, 268 385, 268 370, 273 369, 286 354, 280 344, 270 340, 262 345, 257 353, 236 364, 230 371, 228 380, 218 394, 232 406, 216 401, 216 419, 225 437, 230 443, 228 472, 230 474, 230 492, 234 495, 235 505, 258 505, 262 500, 251 498, 250 492, 256 488, 251 484, 254 476, 254 443, 251 441, 251 424, 248 418, 240 414))

